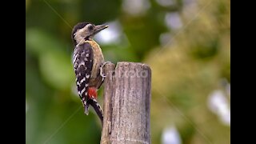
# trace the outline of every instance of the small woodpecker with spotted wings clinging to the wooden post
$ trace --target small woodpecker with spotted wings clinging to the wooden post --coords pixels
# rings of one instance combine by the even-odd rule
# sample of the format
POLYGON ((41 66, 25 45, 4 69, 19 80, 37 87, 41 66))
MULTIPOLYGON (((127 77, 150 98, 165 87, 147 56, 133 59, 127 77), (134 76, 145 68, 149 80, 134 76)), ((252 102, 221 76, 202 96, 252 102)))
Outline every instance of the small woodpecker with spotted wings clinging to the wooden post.
POLYGON ((102 74, 102 67, 106 64, 102 49, 92 38, 106 25, 95 26, 90 22, 80 22, 74 26, 71 38, 74 42, 73 65, 76 85, 81 98, 84 112, 89 114, 92 106, 103 122, 102 108, 97 102, 97 90, 102 86, 106 77, 102 74))

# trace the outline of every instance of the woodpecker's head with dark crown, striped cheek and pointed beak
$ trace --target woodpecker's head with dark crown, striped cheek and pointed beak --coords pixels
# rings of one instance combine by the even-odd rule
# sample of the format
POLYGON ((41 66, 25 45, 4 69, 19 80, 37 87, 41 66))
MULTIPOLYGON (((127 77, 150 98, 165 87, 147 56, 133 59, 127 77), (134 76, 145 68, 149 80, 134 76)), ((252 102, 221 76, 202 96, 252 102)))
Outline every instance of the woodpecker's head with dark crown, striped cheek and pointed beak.
POLYGON ((101 30, 106 29, 108 26, 106 25, 97 25, 90 22, 80 22, 76 26, 74 26, 72 30, 71 38, 73 39, 74 46, 77 45, 82 40, 90 40, 94 37, 95 34, 100 32, 101 30))

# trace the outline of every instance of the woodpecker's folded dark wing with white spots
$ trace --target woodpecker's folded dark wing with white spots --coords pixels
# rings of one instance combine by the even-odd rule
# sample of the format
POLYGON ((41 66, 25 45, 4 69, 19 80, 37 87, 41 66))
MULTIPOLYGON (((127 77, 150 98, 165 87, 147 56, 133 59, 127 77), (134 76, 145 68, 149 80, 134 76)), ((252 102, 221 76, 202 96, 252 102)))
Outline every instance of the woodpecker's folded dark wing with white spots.
POLYGON ((93 66, 93 50, 90 43, 85 42, 76 46, 73 56, 74 72, 76 76, 76 84, 78 94, 83 103, 87 101, 87 90, 90 82, 90 75, 93 66))

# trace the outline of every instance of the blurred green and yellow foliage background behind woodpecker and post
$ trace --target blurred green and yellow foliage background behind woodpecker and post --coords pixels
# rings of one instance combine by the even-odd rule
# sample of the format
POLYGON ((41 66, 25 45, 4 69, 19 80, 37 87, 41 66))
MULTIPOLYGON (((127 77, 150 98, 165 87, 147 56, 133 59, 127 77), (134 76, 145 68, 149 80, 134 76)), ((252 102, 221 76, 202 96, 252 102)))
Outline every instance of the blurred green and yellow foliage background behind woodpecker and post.
POLYGON ((150 65, 152 144, 230 143, 230 0, 26 0, 27 144, 100 142, 74 82, 84 21, 110 26, 106 61, 150 65))

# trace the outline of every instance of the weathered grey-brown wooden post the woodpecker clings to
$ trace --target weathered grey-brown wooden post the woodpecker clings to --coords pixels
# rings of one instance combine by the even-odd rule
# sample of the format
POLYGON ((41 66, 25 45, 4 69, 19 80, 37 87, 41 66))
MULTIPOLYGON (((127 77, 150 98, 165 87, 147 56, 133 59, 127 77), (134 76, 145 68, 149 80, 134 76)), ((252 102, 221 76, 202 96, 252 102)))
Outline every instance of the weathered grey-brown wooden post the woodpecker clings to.
POLYGON ((101 144, 150 144, 150 67, 109 63, 105 74, 101 144))

